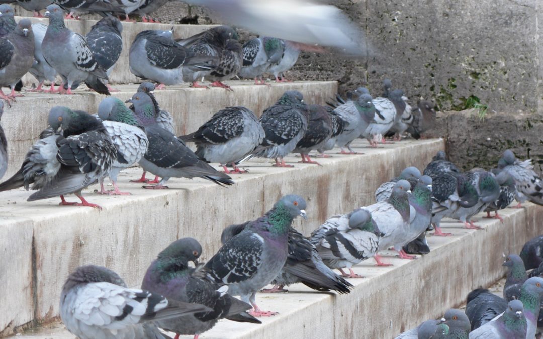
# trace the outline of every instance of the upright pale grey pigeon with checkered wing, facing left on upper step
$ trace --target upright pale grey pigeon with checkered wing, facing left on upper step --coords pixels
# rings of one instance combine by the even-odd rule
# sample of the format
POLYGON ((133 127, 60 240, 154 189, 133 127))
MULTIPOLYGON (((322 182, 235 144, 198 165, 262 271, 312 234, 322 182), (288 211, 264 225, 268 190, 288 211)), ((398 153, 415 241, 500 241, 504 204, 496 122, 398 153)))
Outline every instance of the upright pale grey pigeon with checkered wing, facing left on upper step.
POLYGON ((42 42, 42 53, 67 85, 66 94, 72 94, 73 86, 85 82, 94 91, 109 95, 108 88, 99 79, 108 80, 105 71, 98 65, 83 35, 66 28, 59 5, 48 5, 45 16, 49 25, 42 42))

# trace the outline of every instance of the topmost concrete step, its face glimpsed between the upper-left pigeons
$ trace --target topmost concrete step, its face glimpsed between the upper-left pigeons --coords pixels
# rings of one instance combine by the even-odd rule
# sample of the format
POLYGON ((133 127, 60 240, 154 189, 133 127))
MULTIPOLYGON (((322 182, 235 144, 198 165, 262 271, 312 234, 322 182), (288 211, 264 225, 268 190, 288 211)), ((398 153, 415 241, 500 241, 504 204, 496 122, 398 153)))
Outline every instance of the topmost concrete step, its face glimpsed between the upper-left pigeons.
MULTIPOLYGON (((22 17, 15 17, 15 21, 19 21, 22 17)), ((36 18, 29 17, 32 22, 41 22, 49 24, 48 18, 36 18)), ((91 30, 93 24, 96 23, 96 20, 65 20, 66 27, 73 30, 75 33, 86 35, 91 30)), ((136 38, 136 35, 142 30, 146 29, 162 29, 162 30, 174 30, 174 37, 188 37, 206 29, 213 27, 214 25, 190 25, 190 24, 166 24, 166 23, 148 23, 148 22, 121 22, 123 24, 123 31, 121 36, 123 38, 123 51, 119 60, 117 61, 115 68, 109 76, 110 84, 134 84, 136 82, 141 82, 141 79, 136 78, 136 76, 130 73, 128 67, 128 52, 132 41, 136 38)), ((60 79, 60 78, 59 78, 60 79)), ((37 80, 33 75, 27 73, 23 78, 24 86, 28 87, 32 84, 37 85, 37 80)), ((86 86, 82 86, 85 87, 86 86)))

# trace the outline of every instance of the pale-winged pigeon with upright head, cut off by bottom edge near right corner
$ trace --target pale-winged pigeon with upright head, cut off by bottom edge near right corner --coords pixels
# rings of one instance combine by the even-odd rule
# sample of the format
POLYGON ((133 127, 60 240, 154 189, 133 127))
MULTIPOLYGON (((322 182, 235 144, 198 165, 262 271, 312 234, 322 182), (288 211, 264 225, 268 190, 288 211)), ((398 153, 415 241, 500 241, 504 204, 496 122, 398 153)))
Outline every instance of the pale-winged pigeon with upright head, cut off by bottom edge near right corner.
POLYGON ((511 300, 503 316, 470 332, 469 339, 525 339, 527 322, 520 300, 511 300))

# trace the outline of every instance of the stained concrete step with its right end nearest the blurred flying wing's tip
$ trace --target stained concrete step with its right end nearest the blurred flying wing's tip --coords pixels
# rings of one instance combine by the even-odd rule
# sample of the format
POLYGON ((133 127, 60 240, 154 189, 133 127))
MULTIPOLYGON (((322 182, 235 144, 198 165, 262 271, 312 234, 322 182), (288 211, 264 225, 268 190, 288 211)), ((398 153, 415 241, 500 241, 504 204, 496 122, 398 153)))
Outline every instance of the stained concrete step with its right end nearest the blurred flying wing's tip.
MULTIPOLYGON (((252 81, 227 81, 233 92, 223 88, 188 88, 188 85, 168 86, 155 91, 160 106, 174 116, 178 134, 193 132, 214 113, 228 106, 245 106, 259 115, 290 89, 304 94, 307 103, 324 104, 337 93, 334 81, 285 82, 268 86, 254 86, 252 81)), ((136 93, 138 85, 114 86, 120 92, 112 95, 127 100, 136 93)), ((2 116, 2 126, 8 138, 9 164, 4 180, 21 166, 24 156, 39 133, 47 127, 47 114, 51 107, 67 106, 75 110, 96 113, 105 98, 95 92, 78 89, 75 95, 25 93, 17 98, 2 116)))

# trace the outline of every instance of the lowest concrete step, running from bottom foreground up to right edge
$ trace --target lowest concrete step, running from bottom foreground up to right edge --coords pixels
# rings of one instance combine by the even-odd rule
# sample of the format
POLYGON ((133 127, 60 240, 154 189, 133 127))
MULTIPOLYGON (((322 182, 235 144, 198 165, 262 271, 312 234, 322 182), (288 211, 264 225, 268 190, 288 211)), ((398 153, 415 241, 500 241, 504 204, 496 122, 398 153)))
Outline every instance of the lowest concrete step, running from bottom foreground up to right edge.
MULTIPOLYGON (((402 260, 386 251, 392 267, 376 267, 372 259, 363 261, 354 270, 366 278, 349 279, 356 286, 349 295, 319 293, 300 284, 289 286, 288 293, 259 293, 261 308, 279 311, 279 315, 263 318, 262 325, 220 321, 200 337, 274 339, 285 333, 296 338, 395 337, 465 303, 472 289, 496 282, 503 277, 502 253, 519 253, 526 240, 541 233, 541 207, 527 204, 500 214, 503 223, 478 215, 475 220, 481 230, 444 220, 442 226, 454 235, 428 236, 432 251, 418 260, 402 260)), ((17 336, 52 337, 74 338, 58 321, 17 336)))

